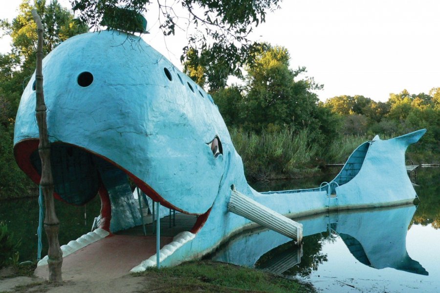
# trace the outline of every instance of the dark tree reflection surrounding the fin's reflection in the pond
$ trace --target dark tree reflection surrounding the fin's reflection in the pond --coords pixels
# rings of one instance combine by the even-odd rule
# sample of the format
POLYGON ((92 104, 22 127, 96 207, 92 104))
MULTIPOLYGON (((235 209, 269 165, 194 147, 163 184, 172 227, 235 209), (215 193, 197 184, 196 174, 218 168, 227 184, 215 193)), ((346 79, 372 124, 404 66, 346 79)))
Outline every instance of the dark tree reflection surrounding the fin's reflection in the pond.
MULTIPOLYGON (((329 236, 329 232, 314 234, 304 237, 303 243, 303 256, 301 257, 300 264, 291 267, 283 274, 286 275, 300 275, 308 276, 312 271, 318 269, 319 264, 327 261, 327 254, 323 254, 322 244, 324 242, 333 242, 333 237, 329 236)), ((264 253, 260 259, 256 262, 255 267, 259 269, 264 268, 264 264, 269 263, 270 259, 276 255, 285 253, 286 251, 298 250, 298 246, 294 241, 287 242, 279 247, 264 253)))

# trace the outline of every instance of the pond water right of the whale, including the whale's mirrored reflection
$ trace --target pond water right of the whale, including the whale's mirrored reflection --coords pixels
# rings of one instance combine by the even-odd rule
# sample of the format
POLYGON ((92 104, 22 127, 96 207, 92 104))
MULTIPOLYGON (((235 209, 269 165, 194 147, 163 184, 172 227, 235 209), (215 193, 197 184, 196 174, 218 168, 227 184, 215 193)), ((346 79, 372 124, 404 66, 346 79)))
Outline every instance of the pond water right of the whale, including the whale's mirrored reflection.
MULTIPOLYGON (((418 206, 298 218, 304 225, 302 247, 255 229, 230 239, 211 257, 297 277, 322 292, 440 292, 440 168, 418 169, 416 183, 418 206)), ((297 182, 277 184, 255 188, 298 188, 297 182)))

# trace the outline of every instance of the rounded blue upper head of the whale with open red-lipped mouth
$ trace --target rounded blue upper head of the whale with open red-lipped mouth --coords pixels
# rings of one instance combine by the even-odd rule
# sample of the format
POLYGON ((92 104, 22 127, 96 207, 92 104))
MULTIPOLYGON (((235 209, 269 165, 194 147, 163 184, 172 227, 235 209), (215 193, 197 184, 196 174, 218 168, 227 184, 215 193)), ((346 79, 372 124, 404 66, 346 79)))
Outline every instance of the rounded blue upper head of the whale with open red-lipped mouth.
MULTIPOLYGON (((43 76, 56 197, 77 205, 93 198, 102 160, 155 201, 190 214, 209 211, 231 171, 245 182, 211 96, 142 39, 75 36, 44 58, 43 76)), ((34 81, 17 113, 14 154, 38 183, 34 81)))

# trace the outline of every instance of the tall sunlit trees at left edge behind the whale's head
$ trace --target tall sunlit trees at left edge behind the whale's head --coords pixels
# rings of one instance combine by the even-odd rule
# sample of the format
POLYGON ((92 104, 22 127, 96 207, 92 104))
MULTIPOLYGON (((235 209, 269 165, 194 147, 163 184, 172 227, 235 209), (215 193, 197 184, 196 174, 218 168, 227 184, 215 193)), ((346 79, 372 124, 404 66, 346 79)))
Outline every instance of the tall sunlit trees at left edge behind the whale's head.
POLYGON ((44 54, 59 42, 88 31, 57 0, 22 0, 19 14, 11 22, 0 21, 3 35, 12 38, 11 51, 0 54, 0 198, 25 195, 32 186, 18 168, 13 156, 13 129, 20 97, 26 83, 35 70, 37 42, 36 25, 31 8, 35 5, 44 22, 44 54))

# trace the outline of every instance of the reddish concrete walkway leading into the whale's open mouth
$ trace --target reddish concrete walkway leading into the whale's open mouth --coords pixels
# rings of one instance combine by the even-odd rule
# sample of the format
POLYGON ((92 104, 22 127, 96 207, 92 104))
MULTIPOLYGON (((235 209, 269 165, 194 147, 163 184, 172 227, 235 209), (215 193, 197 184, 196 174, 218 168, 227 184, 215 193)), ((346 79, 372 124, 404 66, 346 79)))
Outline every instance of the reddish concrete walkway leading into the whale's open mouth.
MULTIPOLYGON (((160 248, 173 237, 160 237, 160 248)), ((63 280, 112 280, 130 273, 143 260, 156 253, 155 236, 112 235, 94 242, 63 259, 63 280)), ((48 279, 46 266, 37 267, 35 275, 48 279)))

